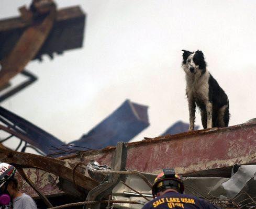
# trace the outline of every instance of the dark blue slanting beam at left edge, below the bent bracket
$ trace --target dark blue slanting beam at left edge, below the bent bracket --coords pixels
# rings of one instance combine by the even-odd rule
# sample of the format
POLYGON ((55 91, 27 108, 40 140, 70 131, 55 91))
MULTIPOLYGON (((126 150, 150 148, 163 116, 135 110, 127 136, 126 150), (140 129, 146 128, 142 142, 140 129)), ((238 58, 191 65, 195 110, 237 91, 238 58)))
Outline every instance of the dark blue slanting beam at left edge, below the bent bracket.
POLYGON ((29 140, 27 143, 39 148, 45 154, 52 153, 50 150, 52 146, 64 145, 55 136, 2 107, 0 107, 0 121, 13 131, 26 136, 29 140))

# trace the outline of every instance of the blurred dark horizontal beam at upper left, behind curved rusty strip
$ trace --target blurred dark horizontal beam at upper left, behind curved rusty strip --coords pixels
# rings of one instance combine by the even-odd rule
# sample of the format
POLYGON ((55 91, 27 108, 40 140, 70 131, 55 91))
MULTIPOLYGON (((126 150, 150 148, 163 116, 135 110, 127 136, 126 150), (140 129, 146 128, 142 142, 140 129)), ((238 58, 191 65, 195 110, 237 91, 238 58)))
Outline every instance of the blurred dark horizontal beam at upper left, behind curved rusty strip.
MULTIPOLYGON (((28 26, 30 24, 21 17, 0 21, 0 60, 12 51, 28 26)), ((40 60, 43 54, 52 57, 54 52, 61 54, 65 50, 81 48, 84 26, 85 14, 79 6, 58 10, 52 30, 34 59, 40 60)))

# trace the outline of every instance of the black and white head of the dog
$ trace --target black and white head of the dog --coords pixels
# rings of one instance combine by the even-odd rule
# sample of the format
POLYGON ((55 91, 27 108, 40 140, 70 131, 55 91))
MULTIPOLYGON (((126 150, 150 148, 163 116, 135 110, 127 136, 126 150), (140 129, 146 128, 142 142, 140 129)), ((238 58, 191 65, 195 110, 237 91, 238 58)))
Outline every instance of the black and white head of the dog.
POLYGON ((202 51, 183 51, 182 67, 188 76, 202 75, 206 71, 206 62, 202 51))

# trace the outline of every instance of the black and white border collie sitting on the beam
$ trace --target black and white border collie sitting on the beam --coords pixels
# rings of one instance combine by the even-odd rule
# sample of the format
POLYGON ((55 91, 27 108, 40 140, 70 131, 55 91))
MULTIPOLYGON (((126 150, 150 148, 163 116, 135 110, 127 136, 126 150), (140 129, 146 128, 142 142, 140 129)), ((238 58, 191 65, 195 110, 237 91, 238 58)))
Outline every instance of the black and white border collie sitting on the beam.
POLYGON ((204 129, 228 126, 228 97, 208 72, 203 52, 182 51, 182 68, 186 73, 186 96, 190 112, 189 131, 194 130, 196 106, 201 111, 204 129))

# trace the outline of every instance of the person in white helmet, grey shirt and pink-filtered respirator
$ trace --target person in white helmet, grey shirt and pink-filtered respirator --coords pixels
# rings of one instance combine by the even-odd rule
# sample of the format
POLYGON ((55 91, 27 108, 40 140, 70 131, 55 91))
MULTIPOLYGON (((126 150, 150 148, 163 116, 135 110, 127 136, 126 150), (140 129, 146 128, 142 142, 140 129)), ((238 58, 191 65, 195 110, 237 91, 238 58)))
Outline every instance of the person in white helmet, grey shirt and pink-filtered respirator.
POLYGON ((14 166, 0 163, 0 208, 36 209, 36 202, 29 195, 19 192, 15 172, 14 166))

